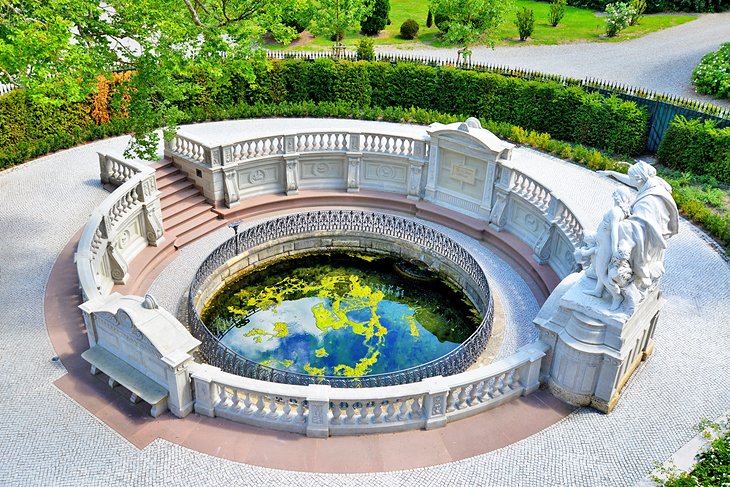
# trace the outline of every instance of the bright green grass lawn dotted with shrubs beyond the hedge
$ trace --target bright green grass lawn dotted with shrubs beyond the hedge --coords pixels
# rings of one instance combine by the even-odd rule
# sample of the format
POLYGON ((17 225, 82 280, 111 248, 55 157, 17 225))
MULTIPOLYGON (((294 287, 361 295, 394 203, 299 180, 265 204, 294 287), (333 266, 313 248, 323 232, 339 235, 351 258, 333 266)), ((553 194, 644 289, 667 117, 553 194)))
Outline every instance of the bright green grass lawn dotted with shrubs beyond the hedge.
MULTIPOLYGON (((593 10, 566 7, 565 17, 557 27, 548 24, 548 11, 550 6, 546 2, 533 0, 516 0, 515 11, 507 15, 504 23, 499 28, 499 38, 503 45, 510 44, 561 44, 568 42, 613 42, 623 39, 640 37, 649 32, 654 32, 667 27, 683 24, 697 18, 696 15, 649 15, 635 25, 622 31, 618 37, 607 39, 601 37, 605 33, 605 22, 602 17, 593 10), (531 8, 535 12, 535 30, 532 37, 526 42, 520 42, 517 34, 517 27, 514 25, 515 12, 522 7, 531 8)), ((428 14, 427 2, 423 0, 390 0, 391 25, 381 31, 375 38, 377 45, 395 45, 403 49, 409 47, 446 47, 438 38, 436 26, 430 29, 426 27, 426 16, 428 14), (419 36, 415 40, 400 38, 400 26, 407 20, 413 19, 420 25, 419 36)), ((321 50, 332 47, 333 42, 327 38, 305 39, 304 34, 297 44, 303 46, 296 49, 321 50)), ((355 46, 363 36, 356 32, 350 32, 343 41, 347 46, 355 46)), ((269 48, 284 48, 284 46, 267 46, 269 48)))

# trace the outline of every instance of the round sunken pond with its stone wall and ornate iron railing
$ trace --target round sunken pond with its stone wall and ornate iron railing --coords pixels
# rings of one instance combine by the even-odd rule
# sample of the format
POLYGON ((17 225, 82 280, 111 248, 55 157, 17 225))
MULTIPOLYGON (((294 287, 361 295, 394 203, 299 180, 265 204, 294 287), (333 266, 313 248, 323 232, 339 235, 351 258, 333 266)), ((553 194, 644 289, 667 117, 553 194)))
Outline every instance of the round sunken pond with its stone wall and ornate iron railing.
POLYGON ((289 384, 377 387, 466 370, 487 345, 484 270, 413 220, 316 211, 249 227, 190 287, 200 358, 289 384))

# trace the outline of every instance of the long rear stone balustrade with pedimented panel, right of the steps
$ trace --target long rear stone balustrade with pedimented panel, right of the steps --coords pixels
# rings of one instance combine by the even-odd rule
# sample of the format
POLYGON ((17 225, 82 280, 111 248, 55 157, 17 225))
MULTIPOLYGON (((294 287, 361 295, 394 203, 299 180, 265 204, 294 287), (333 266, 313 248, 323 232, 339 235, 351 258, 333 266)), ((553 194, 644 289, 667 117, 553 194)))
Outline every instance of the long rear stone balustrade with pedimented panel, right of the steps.
POLYGON ((385 191, 514 233, 561 278, 575 270, 580 222, 550 189, 513 167, 512 144, 478 122, 434 124, 421 137, 342 125, 220 146, 178 134, 165 154, 218 205, 300 190, 385 191))

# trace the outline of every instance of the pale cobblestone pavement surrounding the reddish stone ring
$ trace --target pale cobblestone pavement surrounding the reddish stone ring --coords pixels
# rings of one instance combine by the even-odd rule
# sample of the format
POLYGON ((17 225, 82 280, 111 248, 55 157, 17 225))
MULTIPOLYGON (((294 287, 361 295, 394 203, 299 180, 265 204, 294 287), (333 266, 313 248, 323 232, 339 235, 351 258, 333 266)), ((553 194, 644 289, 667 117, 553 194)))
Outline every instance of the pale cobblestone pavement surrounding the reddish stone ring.
MULTIPOLYGON (((221 127, 210 124, 200 133, 221 127)), ((107 194, 95 152, 120 151, 124 143, 124 138, 96 142, 0 173, 3 485, 633 485, 654 461, 692 438, 700 418, 730 410, 730 266, 682 222, 666 254, 667 302, 656 351, 610 415, 579 409, 491 453, 368 475, 254 467, 164 440, 137 450, 53 386, 64 369, 51 361, 43 317, 53 262, 107 194)), ((521 170, 544 178, 587 226, 609 206, 613 183, 590 171, 526 149, 517 149, 514 159, 521 170)))

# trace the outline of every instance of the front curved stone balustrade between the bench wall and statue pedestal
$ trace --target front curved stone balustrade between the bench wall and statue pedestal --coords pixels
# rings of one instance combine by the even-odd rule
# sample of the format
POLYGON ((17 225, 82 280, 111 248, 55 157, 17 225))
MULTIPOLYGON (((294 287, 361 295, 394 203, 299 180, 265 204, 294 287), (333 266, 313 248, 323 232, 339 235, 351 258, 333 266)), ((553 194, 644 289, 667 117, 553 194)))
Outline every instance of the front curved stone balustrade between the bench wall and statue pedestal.
POLYGON ((277 384, 195 364, 195 411, 314 437, 433 429, 535 391, 548 349, 537 342, 476 370, 362 389, 277 384))

